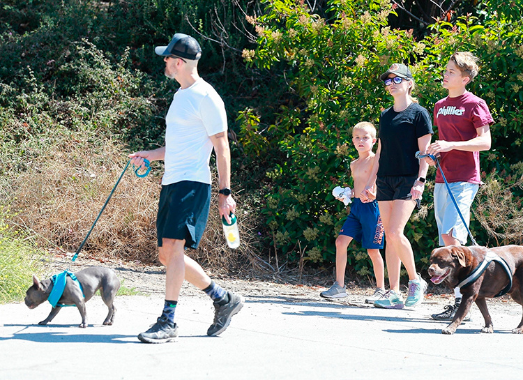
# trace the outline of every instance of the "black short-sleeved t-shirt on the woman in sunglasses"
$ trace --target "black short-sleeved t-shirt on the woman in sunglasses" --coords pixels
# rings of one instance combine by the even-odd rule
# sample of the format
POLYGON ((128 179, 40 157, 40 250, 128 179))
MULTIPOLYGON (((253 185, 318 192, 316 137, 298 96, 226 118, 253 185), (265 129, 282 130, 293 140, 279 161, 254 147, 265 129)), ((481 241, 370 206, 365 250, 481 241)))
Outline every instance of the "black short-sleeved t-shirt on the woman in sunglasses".
POLYGON ((429 133, 434 133, 430 114, 416 102, 402 112, 395 112, 393 107, 381 112, 378 176, 417 176, 418 138, 429 133))

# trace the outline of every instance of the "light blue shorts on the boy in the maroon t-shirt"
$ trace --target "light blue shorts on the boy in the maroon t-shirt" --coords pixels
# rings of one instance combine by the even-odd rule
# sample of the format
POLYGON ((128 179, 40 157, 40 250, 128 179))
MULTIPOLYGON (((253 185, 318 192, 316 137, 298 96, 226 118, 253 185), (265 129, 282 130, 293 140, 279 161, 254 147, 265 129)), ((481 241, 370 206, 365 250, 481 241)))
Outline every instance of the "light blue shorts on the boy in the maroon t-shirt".
MULTIPOLYGON (((448 184, 456 199, 457 206, 463 215, 467 227, 470 224, 470 208, 479 185, 477 183, 454 182, 448 184)), ((439 245, 445 245, 441 234, 448 234, 452 230, 452 237, 467 244, 467 228, 463 225, 460 215, 457 213, 456 206, 448 195, 445 183, 436 183, 434 187, 434 215, 438 225, 439 245)))

